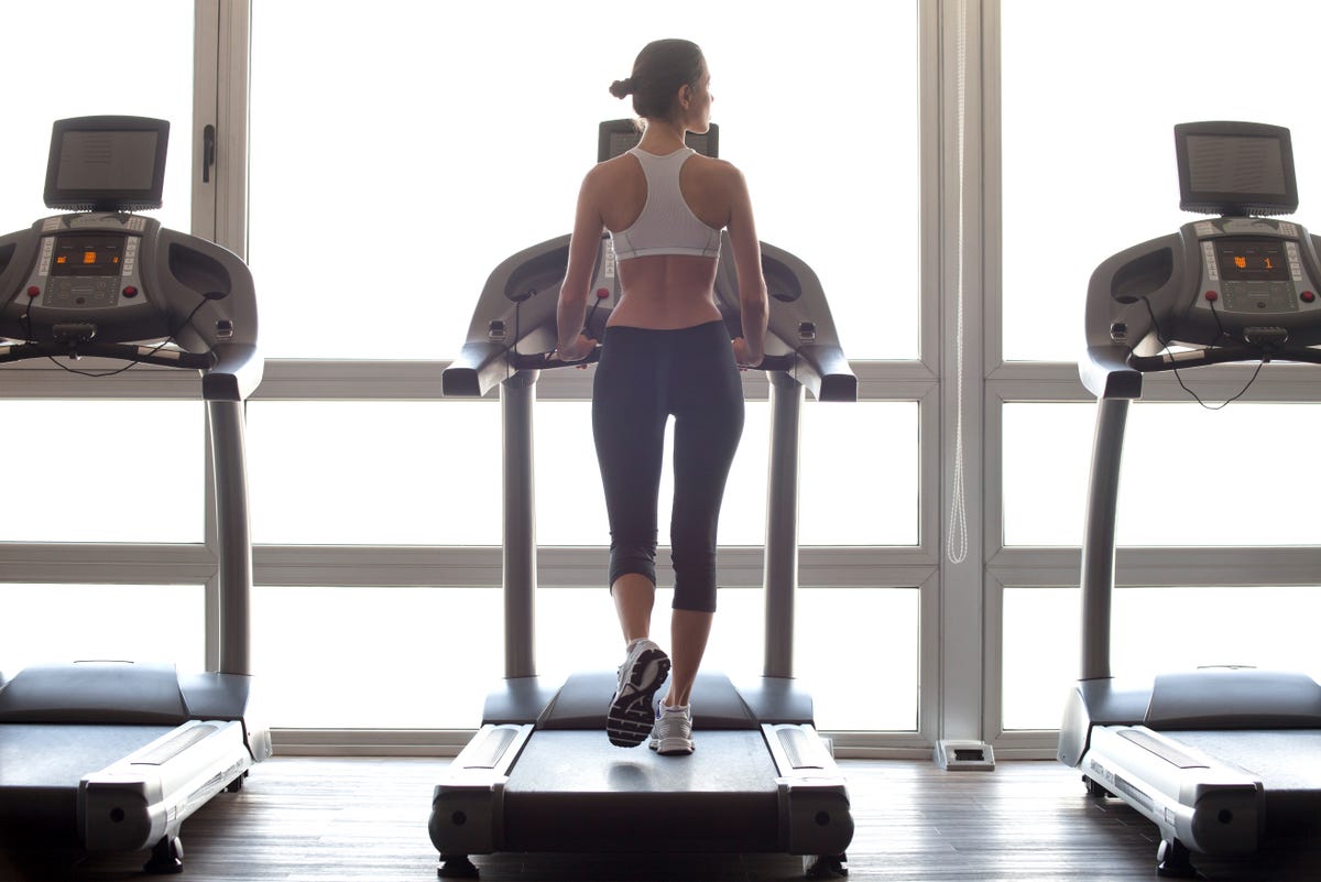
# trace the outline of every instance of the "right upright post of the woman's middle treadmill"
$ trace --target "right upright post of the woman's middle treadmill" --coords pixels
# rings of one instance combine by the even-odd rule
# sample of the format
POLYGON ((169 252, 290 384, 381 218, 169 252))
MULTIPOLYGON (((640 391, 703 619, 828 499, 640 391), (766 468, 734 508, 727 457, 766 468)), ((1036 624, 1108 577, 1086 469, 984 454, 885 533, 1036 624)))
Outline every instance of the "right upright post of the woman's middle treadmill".
POLYGON ((798 436, 802 384, 783 371, 770 380, 770 469, 766 481, 766 663, 764 676, 794 676, 798 589, 798 436))

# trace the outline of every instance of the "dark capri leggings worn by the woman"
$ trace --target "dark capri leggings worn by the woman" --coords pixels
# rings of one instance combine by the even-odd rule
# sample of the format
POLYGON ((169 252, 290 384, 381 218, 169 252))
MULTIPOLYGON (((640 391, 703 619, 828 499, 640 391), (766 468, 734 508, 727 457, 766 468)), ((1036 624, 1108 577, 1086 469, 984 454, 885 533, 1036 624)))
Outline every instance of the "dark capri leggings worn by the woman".
POLYGON ((657 496, 674 415, 670 518, 674 609, 716 609, 716 524, 744 425, 742 383, 724 322, 679 330, 605 330, 592 390, 592 434, 610 519, 610 585, 657 581, 657 496))

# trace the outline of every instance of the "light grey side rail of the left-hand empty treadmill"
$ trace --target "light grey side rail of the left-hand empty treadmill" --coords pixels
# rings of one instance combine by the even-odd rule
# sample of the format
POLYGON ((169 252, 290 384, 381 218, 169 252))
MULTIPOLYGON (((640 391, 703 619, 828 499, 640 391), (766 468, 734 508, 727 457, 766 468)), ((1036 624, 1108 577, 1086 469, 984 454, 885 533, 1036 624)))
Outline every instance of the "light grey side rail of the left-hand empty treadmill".
POLYGON ((178 836, 198 808, 252 766, 243 724, 190 721, 78 786, 90 852, 132 852, 178 836))

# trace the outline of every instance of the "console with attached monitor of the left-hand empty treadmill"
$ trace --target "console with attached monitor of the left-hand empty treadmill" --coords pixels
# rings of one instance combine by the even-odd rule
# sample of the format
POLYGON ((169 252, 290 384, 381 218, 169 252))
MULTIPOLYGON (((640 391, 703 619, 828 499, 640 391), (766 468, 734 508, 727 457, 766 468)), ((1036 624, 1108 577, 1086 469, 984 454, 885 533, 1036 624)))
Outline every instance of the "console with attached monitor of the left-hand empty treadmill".
POLYGON ((100 356, 202 370, 209 399, 256 388, 247 265, 131 214, 161 205, 168 137, 136 116, 54 124, 45 198, 70 213, 0 235, 0 362, 100 356))

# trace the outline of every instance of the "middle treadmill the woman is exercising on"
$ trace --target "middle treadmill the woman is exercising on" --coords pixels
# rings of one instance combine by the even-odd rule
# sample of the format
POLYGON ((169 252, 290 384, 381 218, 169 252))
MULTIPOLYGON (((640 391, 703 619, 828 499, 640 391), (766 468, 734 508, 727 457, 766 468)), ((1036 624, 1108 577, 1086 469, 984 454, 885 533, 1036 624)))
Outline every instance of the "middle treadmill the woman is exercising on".
MULTIPOLYGON (((690 145, 712 153, 719 131, 712 129, 690 136, 690 145)), ((630 120, 602 123, 600 158, 637 140, 630 120)), ((700 672, 692 697, 697 750, 659 757, 645 745, 626 750, 609 743, 605 712, 614 671, 575 673, 563 683, 536 675, 532 404, 540 370, 563 366, 547 353, 556 339, 568 244, 569 236, 551 239, 497 267, 461 354, 443 374, 446 396, 499 388, 506 680, 489 695, 481 729, 435 788, 429 832, 440 852, 439 874, 476 877, 469 856, 495 852, 778 852, 803 856, 812 875, 843 874, 853 836, 848 794, 814 726, 811 697, 793 679, 803 390, 822 401, 857 399, 857 379, 816 275, 762 243, 770 331, 761 368, 770 380, 773 424, 765 676, 736 687, 721 673, 700 672)), ((620 294, 608 235, 593 290, 587 325, 600 338, 620 294)), ((728 242, 716 298, 733 334, 738 297, 728 242)))

